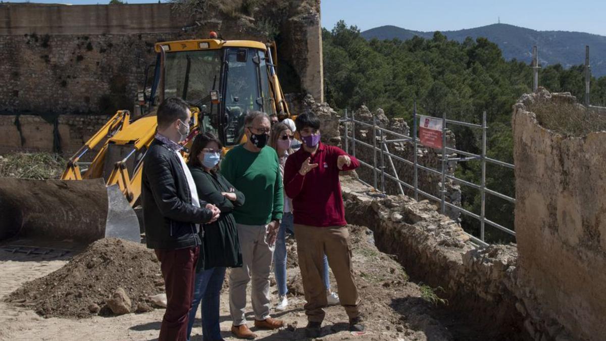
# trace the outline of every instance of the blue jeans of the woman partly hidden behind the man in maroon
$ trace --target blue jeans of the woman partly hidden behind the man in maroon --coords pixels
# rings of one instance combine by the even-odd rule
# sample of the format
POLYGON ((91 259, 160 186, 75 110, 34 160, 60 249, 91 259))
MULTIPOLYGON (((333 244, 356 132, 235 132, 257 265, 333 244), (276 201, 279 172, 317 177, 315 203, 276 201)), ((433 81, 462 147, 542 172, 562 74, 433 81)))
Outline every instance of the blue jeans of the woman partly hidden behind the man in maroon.
MULTIPOLYGON (((293 214, 288 212, 282 216, 282 224, 278 230, 276 238, 276 250, 273 252, 274 272, 276 283, 278 284, 278 294, 284 296, 288 294, 286 288, 286 234, 295 235, 295 225, 293 214)), ((330 277, 328 277, 328 259, 324 255, 324 288, 330 291, 330 277)))

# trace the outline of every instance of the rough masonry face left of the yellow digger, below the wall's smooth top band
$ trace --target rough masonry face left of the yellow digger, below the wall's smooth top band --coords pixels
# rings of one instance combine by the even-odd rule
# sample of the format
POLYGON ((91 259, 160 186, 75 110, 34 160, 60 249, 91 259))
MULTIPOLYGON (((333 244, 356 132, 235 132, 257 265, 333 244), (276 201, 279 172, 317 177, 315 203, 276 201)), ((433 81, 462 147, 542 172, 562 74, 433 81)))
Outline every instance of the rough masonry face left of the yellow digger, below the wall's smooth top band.
MULTIPOLYGON (((155 58, 174 33, 0 35, 0 108, 16 113, 114 113, 132 109, 155 58)), ((150 72, 153 75, 153 70, 150 72)))

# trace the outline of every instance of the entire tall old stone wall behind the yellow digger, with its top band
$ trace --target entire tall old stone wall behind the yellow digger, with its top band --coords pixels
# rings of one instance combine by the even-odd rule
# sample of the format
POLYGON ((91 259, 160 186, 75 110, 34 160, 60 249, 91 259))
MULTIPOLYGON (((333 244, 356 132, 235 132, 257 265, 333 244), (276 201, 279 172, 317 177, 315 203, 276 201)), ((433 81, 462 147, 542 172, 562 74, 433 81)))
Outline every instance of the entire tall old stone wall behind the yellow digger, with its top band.
POLYGON ((322 98, 319 1, 291 1, 276 18, 264 10, 255 8, 252 18, 170 4, 0 4, 0 112, 132 109, 145 67, 155 62, 155 42, 206 38, 210 30, 265 42, 273 24, 282 87, 322 98))

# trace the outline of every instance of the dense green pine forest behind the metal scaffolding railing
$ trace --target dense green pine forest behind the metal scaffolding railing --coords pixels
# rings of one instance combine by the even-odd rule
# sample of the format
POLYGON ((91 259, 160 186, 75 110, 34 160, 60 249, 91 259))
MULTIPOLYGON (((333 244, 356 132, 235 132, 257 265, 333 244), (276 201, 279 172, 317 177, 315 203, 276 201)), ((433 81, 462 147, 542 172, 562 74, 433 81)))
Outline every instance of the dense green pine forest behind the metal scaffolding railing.
MULTIPOLYGON (((488 155, 513 163, 511 106, 531 92, 532 70, 524 62, 506 61, 499 47, 485 38, 448 41, 436 32, 431 39, 364 39, 355 26, 339 22, 324 30, 324 84, 327 102, 336 109, 371 110, 381 107, 390 117, 403 117, 411 126, 413 101, 422 115, 481 123, 488 114, 488 155)), ((548 66, 539 84, 551 92, 571 92, 582 100, 582 66, 548 66)), ((606 103, 606 77, 591 79, 591 103, 606 103)), ((479 154, 481 132, 456 127, 457 147, 479 154)), ((458 177, 479 184, 479 162, 460 164, 458 177)), ((487 187, 514 197, 513 171, 487 166, 487 187)), ((462 186, 464 207, 479 213, 478 192, 462 186)), ((487 195, 487 217, 513 228, 513 205, 487 195)), ((465 220, 468 229, 477 228, 465 220)), ((493 231, 494 229, 491 229, 493 231)), ((504 235, 487 235, 507 240, 504 235)))

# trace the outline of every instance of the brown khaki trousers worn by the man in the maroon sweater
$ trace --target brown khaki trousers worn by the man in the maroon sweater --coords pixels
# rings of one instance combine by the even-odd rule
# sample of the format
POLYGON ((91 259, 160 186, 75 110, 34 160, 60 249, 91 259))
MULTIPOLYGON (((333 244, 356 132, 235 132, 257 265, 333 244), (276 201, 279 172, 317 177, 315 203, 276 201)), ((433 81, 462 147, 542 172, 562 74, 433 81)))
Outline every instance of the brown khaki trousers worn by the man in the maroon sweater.
POLYGON ((308 321, 324 320, 323 308, 327 306, 327 292, 322 279, 324 254, 327 255, 328 265, 335 274, 341 305, 350 319, 358 317, 360 299, 351 264, 351 245, 347 227, 318 228, 295 224, 295 237, 303 290, 307 300, 304 308, 308 321))

